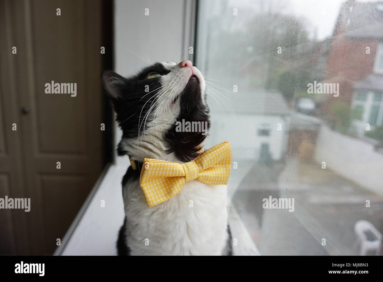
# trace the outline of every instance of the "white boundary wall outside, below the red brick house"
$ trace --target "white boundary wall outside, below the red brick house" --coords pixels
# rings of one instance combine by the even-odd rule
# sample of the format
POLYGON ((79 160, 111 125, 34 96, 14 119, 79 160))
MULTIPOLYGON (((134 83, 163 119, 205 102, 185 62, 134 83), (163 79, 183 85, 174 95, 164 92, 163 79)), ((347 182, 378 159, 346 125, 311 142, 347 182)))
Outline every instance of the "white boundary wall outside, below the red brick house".
POLYGON ((383 195, 383 154, 372 144, 332 131, 322 125, 318 133, 315 160, 326 162, 339 175, 383 195))

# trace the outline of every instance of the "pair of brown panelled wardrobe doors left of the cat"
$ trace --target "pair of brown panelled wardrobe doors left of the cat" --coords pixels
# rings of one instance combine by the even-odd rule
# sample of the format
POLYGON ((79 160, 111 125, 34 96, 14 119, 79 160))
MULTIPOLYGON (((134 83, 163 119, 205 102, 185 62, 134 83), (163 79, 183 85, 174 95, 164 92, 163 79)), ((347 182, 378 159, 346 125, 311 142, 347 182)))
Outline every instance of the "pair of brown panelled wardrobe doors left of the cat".
POLYGON ((31 199, 28 213, 0 210, 0 252, 52 254, 104 165, 101 1, 0 5, 0 197, 31 199), (51 81, 76 96, 47 94, 51 81))

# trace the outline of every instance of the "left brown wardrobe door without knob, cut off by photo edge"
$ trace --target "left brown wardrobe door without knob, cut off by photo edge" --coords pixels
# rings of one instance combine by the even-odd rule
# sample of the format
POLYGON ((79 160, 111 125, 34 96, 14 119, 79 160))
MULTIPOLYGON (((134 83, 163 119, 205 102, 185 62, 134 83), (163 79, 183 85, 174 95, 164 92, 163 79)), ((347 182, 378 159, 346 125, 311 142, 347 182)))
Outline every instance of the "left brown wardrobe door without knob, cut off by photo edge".
MULTIPOLYGON (((0 198, 26 195, 23 178, 21 124, 18 111, 16 57, 10 1, 0 1, 0 198), (12 130, 16 124, 17 130, 12 130)), ((23 210, 0 209, 0 255, 28 254, 28 229, 23 210)))

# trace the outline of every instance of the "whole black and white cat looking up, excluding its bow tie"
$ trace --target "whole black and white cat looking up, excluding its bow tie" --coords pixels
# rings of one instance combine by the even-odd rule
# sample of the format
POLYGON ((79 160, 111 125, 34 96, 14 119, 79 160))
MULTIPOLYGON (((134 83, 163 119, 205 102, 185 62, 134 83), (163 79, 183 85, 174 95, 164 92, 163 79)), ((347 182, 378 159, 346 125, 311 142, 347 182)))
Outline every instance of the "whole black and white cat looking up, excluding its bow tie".
POLYGON ((183 119, 209 125, 201 72, 182 61, 155 63, 131 78, 104 71, 101 78, 123 132, 118 155, 137 167, 122 180, 126 217, 118 254, 231 255, 226 185, 188 181, 173 198, 148 208, 139 184, 144 158, 189 162, 201 153, 207 135, 177 132, 175 125, 183 119))

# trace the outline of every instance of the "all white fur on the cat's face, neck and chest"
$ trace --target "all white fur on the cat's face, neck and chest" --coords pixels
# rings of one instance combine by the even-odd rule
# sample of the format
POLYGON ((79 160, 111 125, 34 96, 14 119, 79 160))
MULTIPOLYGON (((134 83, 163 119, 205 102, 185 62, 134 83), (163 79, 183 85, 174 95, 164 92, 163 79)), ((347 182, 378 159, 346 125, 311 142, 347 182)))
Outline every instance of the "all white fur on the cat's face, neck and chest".
MULTIPOLYGON (((144 158, 178 162, 173 153, 165 154, 167 142, 163 134, 178 116, 180 99, 174 104, 171 101, 185 88, 191 70, 175 63, 163 64, 171 72, 162 77, 163 88, 169 88, 161 95, 169 99, 163 99, 151 113, 154 120, 146 124, 143 136, 123 143, 132 158, 140 162, 144 158)), ((193 73, 200 81, 203 95, 205 80, 195 67, 193 73)), ((123 187, 123 199, 126 241, 131 255, 223 254, 228 239, 226 185, 207 185, 192 180, 170 200, 148 208, 139 180, 129 180, 123 187)))

